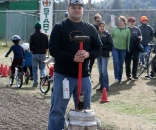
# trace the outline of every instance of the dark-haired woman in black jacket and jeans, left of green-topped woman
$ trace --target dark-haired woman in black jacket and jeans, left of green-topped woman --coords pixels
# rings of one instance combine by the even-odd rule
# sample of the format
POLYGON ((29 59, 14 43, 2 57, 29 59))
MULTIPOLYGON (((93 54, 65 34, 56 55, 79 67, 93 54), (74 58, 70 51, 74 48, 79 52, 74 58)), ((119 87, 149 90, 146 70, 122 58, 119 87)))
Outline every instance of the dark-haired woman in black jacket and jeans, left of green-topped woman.
POLYGON ((105 22, 101 21, 99 23, 99 35, 102 41, 102 53, 101 56, 97 58, 98 70, 100 74, 100 88, 96 91, 101 91, 105 87, 109 91, 109 78, 107 72, 109 52, 112 50, 113 41, 110 33, 105 30, 105 22))

